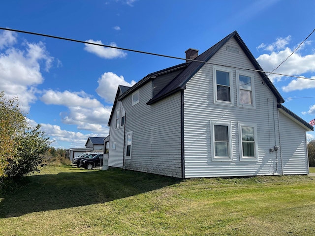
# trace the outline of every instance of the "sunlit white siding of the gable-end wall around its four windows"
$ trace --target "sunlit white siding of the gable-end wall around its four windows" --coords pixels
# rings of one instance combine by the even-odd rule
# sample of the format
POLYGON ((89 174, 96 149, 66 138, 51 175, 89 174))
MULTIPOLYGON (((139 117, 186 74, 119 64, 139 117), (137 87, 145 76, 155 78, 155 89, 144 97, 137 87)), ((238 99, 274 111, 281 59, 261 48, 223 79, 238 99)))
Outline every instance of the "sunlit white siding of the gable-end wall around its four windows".
MULTIPOLYGON (((226 44, 226 46, 240 48, 234 38, 226 44)), ((239 54, 236 54, 223 47, 209 62, 254 69, 241 49, 239 54)), ((233 85, 231 103, 235 104, 233 106, 216 103, 213 66, 210 64, 203 65, 186 84, 184 90, 185 177, 256 176, 282 173, 279 154, 269 151, 275 145, 280 145, 276 97, 266 85, 261 83, 261 76, 253 72, 255 88, 253 99, 256 110, 238 107, 236 70, 231 70, 233 85), (231 123, 233 153, 231 161, 212 161, 213 148, 209 128, 211 120, 231 123), (256 124, 258 159, 255 161, 240 160, 242 153, 239 122, 256 124)))

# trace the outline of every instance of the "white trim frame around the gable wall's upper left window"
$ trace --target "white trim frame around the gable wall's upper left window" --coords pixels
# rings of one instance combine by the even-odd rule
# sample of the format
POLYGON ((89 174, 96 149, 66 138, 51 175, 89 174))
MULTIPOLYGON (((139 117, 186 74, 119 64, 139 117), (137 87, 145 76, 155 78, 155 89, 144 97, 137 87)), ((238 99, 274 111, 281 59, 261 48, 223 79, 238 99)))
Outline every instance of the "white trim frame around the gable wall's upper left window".
POLYGON ((233 88, 233 70, 221 66, 212 66, 212 77, 213 77, 213 103, 227 106, 234 106, 234 88, 233 88), (228 72, 230 79, 230 96, 231 101, 221 101, 217 99, 217 70, 228 72))

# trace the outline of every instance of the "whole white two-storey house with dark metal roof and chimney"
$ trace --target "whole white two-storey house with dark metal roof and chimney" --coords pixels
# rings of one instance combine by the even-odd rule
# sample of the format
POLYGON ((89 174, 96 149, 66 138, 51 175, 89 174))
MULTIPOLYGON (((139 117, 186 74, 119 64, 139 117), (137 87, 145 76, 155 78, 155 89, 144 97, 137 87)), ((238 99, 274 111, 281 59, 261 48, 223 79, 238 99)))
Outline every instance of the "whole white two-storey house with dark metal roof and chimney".
POLYGON ((182 178, 309 173, 313 126, 282 105, 236 31, 186 58, 119 86, 109 166, 182 178))

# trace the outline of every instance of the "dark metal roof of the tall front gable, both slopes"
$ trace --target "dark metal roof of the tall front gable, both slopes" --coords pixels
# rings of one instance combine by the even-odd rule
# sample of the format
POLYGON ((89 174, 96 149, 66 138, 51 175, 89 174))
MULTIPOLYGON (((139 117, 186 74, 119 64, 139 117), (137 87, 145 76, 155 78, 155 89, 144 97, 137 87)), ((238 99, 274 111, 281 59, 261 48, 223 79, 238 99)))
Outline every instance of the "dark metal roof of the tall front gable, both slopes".
MULTIPOLYGON (((195 60, 199 61, 208 61, 215 55, 219 49, 232 37, 235 38, 235 40, 238 42, 240 47, 243 49, 244 53, 247 55, 247 57, 252 62, 253 66, 256 70, 262 70, 256 59, 252 56, 252 53, 247 48, 243 40, 241 39, 240 35, 237 33, 237 31, 232 32, 231 34, 227 35, 225 38, 223 38, 220 42, 209 48, 204 53, 200 54, 198 57, 195 58, 195 60)), ((187 62, 189 65, 186 67, 185 70, 183 70, 178 76, 176 76, 167 86, 165 86, 163 89, 161 89, 157 95, 155 95, 152 99, 150 99, 147 104, 153 104, 164 97, 167 97, 180 89, 185 89, 186 83, 191 79, 191 77, 203 66, 205 63, 198 62, 198 61, 190 61, 187 62)), ((277 97, 278 103, 283 103, 284 99, 278 92, 278 90, 274 87, 274 85, 271 83, 269 78, 264 72, 258 72, 262 79, 265 81, 267 86, 271 89, 271 91, 275 94, 277 97)))

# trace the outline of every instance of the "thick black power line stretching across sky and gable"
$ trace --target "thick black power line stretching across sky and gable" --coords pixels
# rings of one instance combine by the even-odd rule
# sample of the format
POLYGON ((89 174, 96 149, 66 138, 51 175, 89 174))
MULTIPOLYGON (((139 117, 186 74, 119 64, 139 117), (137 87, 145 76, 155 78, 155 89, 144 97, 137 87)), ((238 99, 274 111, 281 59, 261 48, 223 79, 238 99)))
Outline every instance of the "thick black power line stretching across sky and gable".
MULTIPOLYGON (((133 50, 133 49, 127 49, 127 48, 120 48, 120 47, 115 47, 115 46, 110 46, 110 45, 99 44, 99 43, 91 43, 91 42, 86 42, 86 41, 82 41, 82 40, 71 39, 71 38, 64 38, 64 37, 53 36, 53 35, 43 34, 43 33, 35 33, 35 32, 30 32, 30 31, 18 30, 18 29, 7 29, 7 28, 2 28, 2 27, 0 27, 0 29, 9 30, 9 31, 14 31, 14 32, 19 32, 19 33, 33 34, 33 35, 38 35, 38 36, 43 36, 43 37, 49 37, 49 38, 56 38, 56 39, 67 40, 67 41, 71 41, 71 42, 77 42, 77 43, 91 44, 91 45, 101 46, 101 47, 106 47, 106 48, 114 48, 114 49, 119 49, 119 50, 134 52, 134 53, 148 54, 148 55, 153 55, 153 56, 158 56, 158 57, 164 57, 164 58, 172 58, 172 59, 180 59, 180 60, 190 60, 190 61, 196 61, 196 62, 211 64, 211 65, 218 65, 218 66, 224 66, 224 67, 229 67, 229 68, 234 68, 234 69, 240 69, 240 70, 248 70, 248 71, 269 73, 269 75, 270 75, 270 74, 275 74, 275 75, 281 75, 281 76, 294 77, 294 78, 300 78, 300 79, 314 80, 314 81, 315 81, 315 79, 307 78, 307 77, 294 76, 294 75, 286 75, 286 74, 282 74, 282 73, 275 73, 275 72, 273 72, 273 71, 272 71, 272 72, 268 72, 268 71, 263 71, 263 70, 242 68, 242 67, 236 67, 236 66, 230 66, 230 65, 221 65, 221 64, 211 63, 211 62, 208 62, 208 61, 195 60, 195 59, 187 59, 187 58, 179 58, 179 57, 167 56, 167 55, 162 55, 162 54, 157 54, 157 53, 149 53, 149 52, 144 52, 144 51, 139 51, 139 50, 133 50)), ((315 29, 314 29, 314 30, 315 30, 315 29)), ((314 30, 313 30, 313 32, 314 32, 314 30)), ((313 33, 313 32, 312 32, 312 33, 313 33)))

